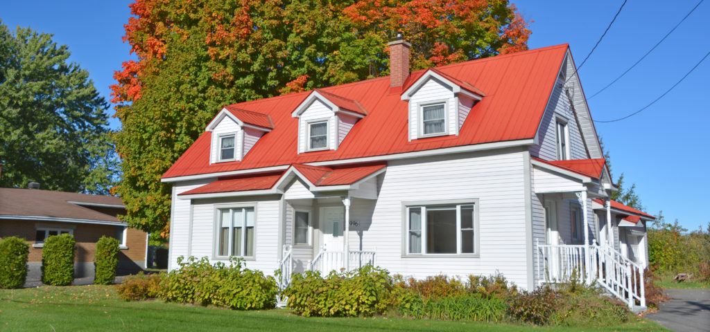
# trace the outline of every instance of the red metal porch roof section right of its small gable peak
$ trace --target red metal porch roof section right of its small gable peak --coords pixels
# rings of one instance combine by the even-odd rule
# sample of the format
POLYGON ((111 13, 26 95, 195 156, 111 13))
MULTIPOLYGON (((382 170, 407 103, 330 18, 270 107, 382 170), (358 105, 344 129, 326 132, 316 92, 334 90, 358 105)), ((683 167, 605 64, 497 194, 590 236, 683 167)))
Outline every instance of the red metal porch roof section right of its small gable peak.
POLYGON ((314 185, 349 185, 356 183, 366 176, 375 173, 376 171, 385 168, 385 164, 377 164, 370 166, 355 166, 344 168, 329 168, 319 166, 308 166, 302 164, 294 164, 303 176, 314 185))

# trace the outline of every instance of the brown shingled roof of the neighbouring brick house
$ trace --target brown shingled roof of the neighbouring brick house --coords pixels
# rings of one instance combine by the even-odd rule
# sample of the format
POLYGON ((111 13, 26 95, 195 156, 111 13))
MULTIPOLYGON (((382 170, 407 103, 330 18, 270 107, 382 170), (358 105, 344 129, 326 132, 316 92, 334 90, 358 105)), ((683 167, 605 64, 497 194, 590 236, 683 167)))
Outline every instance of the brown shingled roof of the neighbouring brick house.
POLYGON ((66 219, 57 221, 120 222, 99 210, 122 211, 121 198, 62 191, 0 188, 0 219, 66 219), (96 210, 94 210, 96 209, 96 210), (16 217, 16 218, 13 218, 16 217))

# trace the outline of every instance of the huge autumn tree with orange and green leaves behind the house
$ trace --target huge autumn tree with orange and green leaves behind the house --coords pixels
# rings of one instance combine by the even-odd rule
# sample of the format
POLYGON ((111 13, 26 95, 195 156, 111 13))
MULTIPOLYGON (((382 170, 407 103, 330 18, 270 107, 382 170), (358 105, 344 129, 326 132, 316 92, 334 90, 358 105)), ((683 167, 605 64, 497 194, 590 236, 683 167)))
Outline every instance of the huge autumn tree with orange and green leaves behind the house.
POLYGON ((137 60, 111 86, 121 131, 121 218, 168 233, 160 176, 219 108, 388 74, 387 42, 412 45, 413 69, 527 48, 508 1, 136 0, 124 40, 137 60))

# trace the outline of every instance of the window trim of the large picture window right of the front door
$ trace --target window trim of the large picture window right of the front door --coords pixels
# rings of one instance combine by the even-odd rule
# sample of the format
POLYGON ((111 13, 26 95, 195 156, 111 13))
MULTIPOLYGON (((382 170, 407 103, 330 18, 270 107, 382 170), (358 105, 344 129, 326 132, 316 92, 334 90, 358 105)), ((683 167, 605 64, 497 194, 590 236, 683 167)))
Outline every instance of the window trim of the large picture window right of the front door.
MULTIPOLYGON (((461 200, 422 200, 402 202, 402 258, 480 258, 481 257, 481 205, 479 198, 461 200), (474 253, 409 253, 409 209, 410 207, 426 207, 432 205, 457 205, 457 252, 461 251, 461 205, 474 205, 474 253)), ((426 209, 422 209, 422 251, 426 242, 426 209)))

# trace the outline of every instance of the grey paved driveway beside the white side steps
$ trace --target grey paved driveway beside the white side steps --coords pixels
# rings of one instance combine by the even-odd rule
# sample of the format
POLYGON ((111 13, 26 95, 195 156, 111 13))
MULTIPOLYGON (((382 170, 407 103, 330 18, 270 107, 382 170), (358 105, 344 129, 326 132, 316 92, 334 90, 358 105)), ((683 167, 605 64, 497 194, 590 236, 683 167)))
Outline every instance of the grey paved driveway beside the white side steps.
POLYGON ((672 331, 710 331, 710 290, 666 290, 669 302, 646 318, 672 331))

